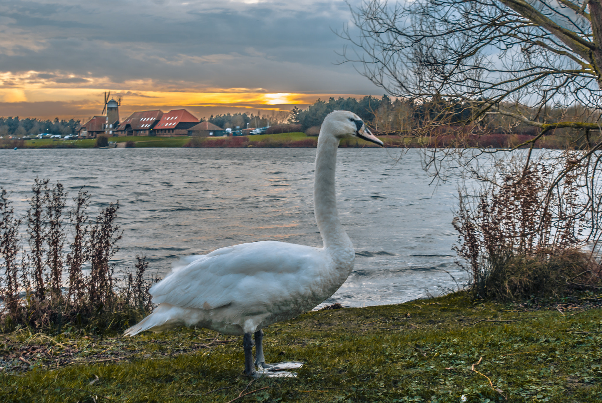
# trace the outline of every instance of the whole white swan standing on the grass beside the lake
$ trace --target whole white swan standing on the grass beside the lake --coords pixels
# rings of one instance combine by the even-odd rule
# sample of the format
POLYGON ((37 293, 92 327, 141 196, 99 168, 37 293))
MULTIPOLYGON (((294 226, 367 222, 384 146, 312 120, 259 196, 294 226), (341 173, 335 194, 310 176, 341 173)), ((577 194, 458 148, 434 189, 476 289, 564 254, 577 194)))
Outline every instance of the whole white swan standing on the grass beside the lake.
POLYGON ((314 181, 315 220, 323 248, 262 241, 182 258, 179 266, 150 290, 158 307, 125 334, 186 325, 244 336, 246 375, 294 376, 274 371, 302 363, 265 363, 261 329, 311 310, 334 294, 353 269, 355 251, 338 219, 335 195, 337 148, 343 137, 383 145, 355 113, 334 111, 324 119, 314 181), (253 365, 253 333, 254 364, 259 371, 253 365))

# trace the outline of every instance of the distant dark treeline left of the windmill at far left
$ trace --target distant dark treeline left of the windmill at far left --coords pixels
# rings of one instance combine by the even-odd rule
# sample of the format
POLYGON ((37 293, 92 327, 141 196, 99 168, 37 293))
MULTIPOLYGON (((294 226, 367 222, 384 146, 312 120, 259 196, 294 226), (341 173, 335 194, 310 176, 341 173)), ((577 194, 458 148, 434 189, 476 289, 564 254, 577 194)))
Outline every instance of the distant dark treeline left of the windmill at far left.
POLYGON ((59 120, 55 117, 54 120, 41 120, 26 117, 19 119, 19 116, 0 117, 0 136, 37 136, 40 133, 61 134, 76 134, 81 126, 79 120, 59 120))

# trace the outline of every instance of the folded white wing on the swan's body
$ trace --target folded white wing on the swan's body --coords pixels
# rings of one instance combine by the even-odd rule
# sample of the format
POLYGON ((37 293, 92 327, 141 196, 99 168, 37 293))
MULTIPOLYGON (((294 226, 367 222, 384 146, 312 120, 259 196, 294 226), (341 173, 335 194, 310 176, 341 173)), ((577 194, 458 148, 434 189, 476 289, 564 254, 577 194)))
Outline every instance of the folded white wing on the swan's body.
POLYGON ((150 290, 155 304, 213 309, 255 305, 311 293, 326 264, 322 249, 285 242, 253 242, 217 249, 175 269, 150 290))

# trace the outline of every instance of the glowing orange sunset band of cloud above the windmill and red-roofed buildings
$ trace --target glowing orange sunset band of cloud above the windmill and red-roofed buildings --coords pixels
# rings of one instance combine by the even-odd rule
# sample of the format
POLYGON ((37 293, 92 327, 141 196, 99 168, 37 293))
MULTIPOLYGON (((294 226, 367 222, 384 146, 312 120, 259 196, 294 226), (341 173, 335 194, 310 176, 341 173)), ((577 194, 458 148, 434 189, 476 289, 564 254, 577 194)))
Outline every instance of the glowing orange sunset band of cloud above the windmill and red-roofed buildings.
MULTIPOLYGON (((102 78, 75 77, 54 72, 31 70, 19 74, 0 72, 0 103, 4 112, 19 113, 22 117, 82 118, 91 114, 100 114, 105 91, 111 92, 111 98, 122 98, 122 114, 134 110, 168 109, 187 107, 197 114, 205 110, 218 108, 215 112, 241 111, 245 109, 290 110, 294 105, 312 104, 316 99, 328 99, 340 94, 305 93, 267 93, 264 89, 225 88, 205 90, 169 90, 153 89, 151 81, 131 81, 118 85, 102 78), (97 84, 97 85, 95 85, 97 84), (14 108, 10 105, 14 104, 14 108), (50 107, 55 104, 54 107, 50 107), (18 108, 17 108, 18 105, 18 108), (37 107, 39 105, 40 107, 37 107), (43 105, 43 107, 42 107, 43 105), (64 105, 64 113, 57 113, 64 105), (29 110, 28 110, 29 108, 29 110), (228 109, 230 108, 230 109, 228 109), (52 116, 49 115, 52 113, 52 116)), ((203 116, 203 115, 200 115, 203 116)))

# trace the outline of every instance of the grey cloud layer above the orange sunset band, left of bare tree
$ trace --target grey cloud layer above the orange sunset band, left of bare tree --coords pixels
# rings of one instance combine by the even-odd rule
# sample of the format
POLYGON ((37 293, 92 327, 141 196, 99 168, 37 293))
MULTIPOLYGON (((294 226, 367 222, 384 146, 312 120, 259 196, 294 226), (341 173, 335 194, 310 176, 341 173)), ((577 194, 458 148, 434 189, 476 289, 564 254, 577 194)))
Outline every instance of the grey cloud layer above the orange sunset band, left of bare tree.
POLYGON ((333 64, 345 45, 331 31, 349 17, 342 1, 308 2, 305 11, 285 2, 205 1, 187 10, 169 1, 5 4, 9 26, 39 42, 0 53, 3 70, 73 73, 79 83, 109 77, 173 88, 382 92, 352 66, 333 64))

